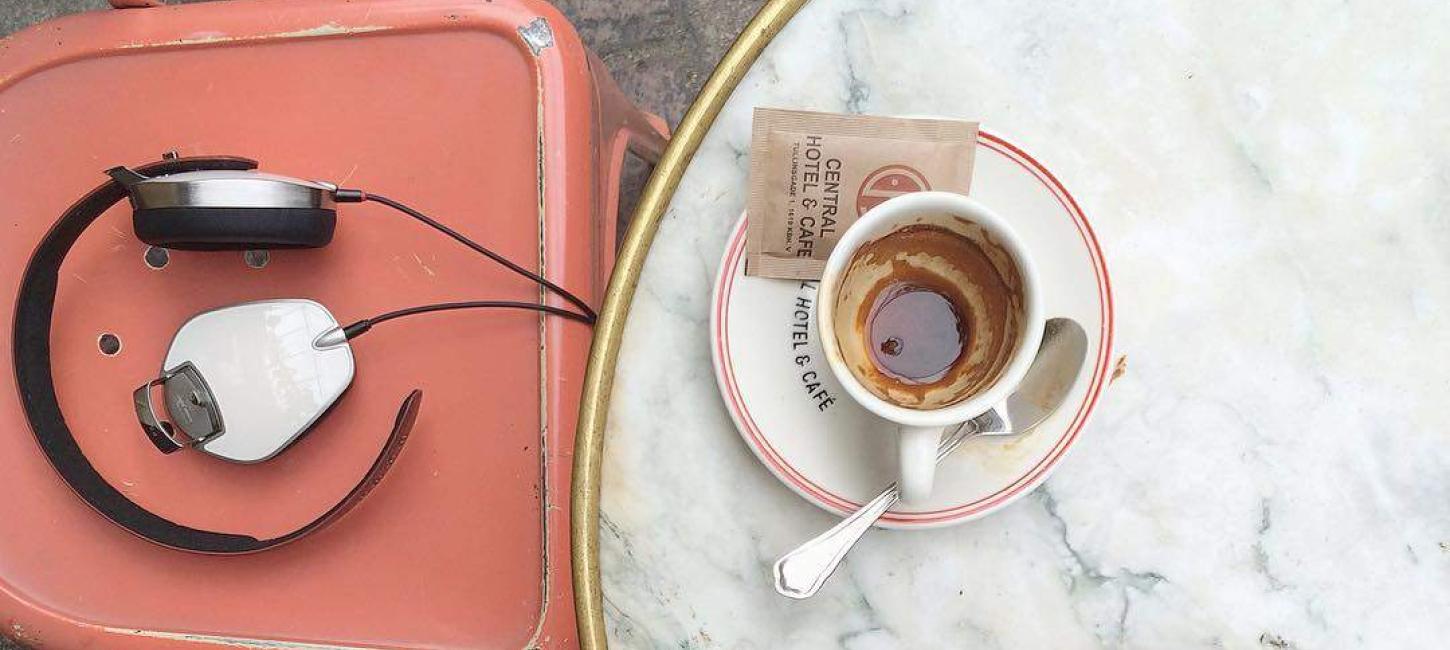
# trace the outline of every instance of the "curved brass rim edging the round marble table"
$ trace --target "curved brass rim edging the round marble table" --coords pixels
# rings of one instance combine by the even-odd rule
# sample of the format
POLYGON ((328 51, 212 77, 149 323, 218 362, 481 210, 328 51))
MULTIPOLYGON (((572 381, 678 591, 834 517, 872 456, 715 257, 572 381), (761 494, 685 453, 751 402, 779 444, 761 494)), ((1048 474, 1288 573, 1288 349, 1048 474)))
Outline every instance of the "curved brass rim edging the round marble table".
POLYGON ((654 174, 639 194, 613 274, 609 277, 605 303, 594 324, 589 367, 584 371, 570 495, 574 615, 579 620, 579 646, 586 650, 602 650, 609 646, 599 579, 599 477, 605 448, 605 419, 613 389, 615 364, 619 361, 619 341, 635 287, 639 284, 639 271, 644 268, 650 244, 660 229, 660 219, 670 206, 670 199, 674 197, 674 190, 700 148, 705 133, 760 52, 806 1, 768 0, 735 38, 684 113, 668 148, 664 149, 654 174))

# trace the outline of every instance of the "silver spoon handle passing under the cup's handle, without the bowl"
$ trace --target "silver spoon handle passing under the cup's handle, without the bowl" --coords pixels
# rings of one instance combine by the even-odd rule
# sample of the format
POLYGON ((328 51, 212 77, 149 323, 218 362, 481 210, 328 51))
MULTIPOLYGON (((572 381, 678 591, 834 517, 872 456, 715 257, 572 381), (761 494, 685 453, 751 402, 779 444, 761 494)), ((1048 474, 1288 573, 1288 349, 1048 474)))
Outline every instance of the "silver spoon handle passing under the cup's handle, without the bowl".
MULTIPOLYGON (((979 431, 980 428, 974 422, 958 427, 937 447, 937 463, 941 463, 941 458, 945 458, 979 431)), ((831 577, 831 573, 835 573, 835 567, 841 564, 856 541, 899 501, 900 492, 896 489, 896 483, 892 483, 884 492, 866 502, 861 509, 841 519, 831 530, 782 556, 780 560, 776 560, 774 567, 776 592, 795 599, 813 596, 815 592, 821 591, 821 585, 825 585, 825 580, 831 577)))

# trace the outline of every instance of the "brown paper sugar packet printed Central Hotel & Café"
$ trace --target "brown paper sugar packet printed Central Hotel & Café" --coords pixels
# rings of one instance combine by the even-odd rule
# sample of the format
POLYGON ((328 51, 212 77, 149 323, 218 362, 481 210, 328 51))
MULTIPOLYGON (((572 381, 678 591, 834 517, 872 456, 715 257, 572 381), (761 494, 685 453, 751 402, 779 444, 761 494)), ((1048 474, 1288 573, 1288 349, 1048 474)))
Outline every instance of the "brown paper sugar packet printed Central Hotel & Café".
POLYGON ((819 280, 856 219, 893 196, 966 194, 977 123, 755 109, 745 274, 819 280))

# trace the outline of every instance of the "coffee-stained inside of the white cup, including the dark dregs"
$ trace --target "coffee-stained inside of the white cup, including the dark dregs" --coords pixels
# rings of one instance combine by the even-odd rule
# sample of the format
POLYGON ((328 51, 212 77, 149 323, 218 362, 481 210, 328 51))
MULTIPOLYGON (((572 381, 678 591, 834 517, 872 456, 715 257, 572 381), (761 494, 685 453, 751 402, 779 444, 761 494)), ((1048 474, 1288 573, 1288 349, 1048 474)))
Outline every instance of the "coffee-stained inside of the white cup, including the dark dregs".
POLYGON ((861 247, 837 296, 838 345, 876 396, 950 406, 990 386, 1016 345, 1021 279, 990 235, 918 223, 861 247))

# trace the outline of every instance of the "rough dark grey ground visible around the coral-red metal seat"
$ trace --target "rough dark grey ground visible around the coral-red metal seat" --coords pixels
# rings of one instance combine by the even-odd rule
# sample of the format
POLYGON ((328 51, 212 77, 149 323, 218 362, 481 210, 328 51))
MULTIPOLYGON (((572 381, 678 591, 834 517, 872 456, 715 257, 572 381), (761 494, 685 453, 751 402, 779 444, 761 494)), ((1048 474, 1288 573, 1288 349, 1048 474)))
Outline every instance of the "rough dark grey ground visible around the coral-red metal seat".
MULTIPOLYGON (((625 94, 674 125, 761 0, 557 0, 554 4, 605 61, 625 94)), ((106 0, 0 0, 0 35, 55 16, 106 7, 106 0)), ((626 178, 625 192, 638 192, 642 183, 641 171, 626 178)), ((631 203, 626 199, 626 206, 631 203)), ((0 633, 0 650, 17 649, 0 633)))

